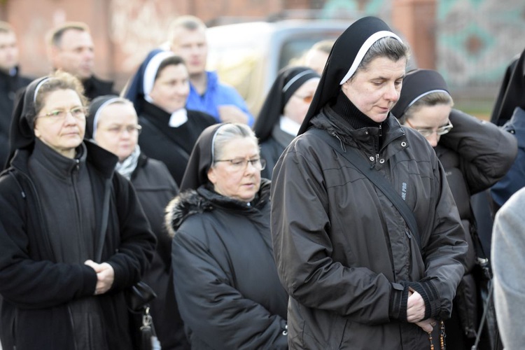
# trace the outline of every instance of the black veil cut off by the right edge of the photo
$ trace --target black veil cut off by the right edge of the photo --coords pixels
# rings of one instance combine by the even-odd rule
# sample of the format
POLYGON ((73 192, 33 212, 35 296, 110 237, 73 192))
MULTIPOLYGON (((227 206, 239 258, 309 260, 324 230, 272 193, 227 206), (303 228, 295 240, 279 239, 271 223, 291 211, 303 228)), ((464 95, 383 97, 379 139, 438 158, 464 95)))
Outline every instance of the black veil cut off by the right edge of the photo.
POLYGON ((491 122, 496 125, 505 124, 512 117, 516 107, 525 109, 525 50, 507 67, 492 111, 491 122))

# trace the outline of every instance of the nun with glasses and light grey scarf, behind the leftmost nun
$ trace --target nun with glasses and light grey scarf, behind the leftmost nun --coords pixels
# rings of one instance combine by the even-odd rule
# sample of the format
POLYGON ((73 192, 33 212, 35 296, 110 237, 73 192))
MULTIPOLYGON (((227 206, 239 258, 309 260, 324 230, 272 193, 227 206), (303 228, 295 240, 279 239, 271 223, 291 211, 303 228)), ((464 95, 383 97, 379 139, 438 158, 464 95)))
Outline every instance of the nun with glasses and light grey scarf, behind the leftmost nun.
POLYGON ((188 349, 173 290, 172 239, 164 226, 165 207, 179 193, 166 165, 148 158, 138 144, 141 126, 132 102, 115 95, 90 104, 86 137, 118 156, 116 171, 130 180, 157 237, 157 250, 142 281, 157 297, 150 302, 162 349, 188 349))

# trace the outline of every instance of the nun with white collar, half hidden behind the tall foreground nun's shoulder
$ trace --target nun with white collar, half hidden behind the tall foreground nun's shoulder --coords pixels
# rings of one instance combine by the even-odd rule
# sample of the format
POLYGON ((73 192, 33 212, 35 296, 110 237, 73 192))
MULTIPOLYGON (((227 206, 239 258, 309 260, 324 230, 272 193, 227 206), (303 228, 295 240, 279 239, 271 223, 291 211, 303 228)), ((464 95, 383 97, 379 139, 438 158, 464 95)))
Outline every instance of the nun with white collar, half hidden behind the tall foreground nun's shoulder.
POLYGON ((261 172, 265 179, 272 179, 275 163, 297 135, 319 78, 307 67, 292 66, 282 69, 270 88, 253 126, 260 156, 266 160, 266 168, 261 172))

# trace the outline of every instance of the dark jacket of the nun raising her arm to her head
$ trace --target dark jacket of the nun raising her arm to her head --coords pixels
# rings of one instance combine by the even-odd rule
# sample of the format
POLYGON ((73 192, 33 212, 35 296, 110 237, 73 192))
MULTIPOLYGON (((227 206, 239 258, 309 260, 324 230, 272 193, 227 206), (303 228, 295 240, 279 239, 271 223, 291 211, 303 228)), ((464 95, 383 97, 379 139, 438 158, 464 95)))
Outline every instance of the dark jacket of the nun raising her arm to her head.
MULTIPOLYGON (((461 321, 461 332, 475 337, 480 305, 472 272, 477 253, 488 258, 490 252, 476 251, 479 244, 472 236, 476 233, 476 225, 470 196, 490 188, 507 173, 516 158, 517 142, 509 132, 456 109, 451 111, 449 120, 454 127, 440 138, 434 149, 447 175, 468 242, 465 276, 457 290, 454 311, 461 321)), ((451 334, 449 332, 449 345, 454 344, 451 334)))

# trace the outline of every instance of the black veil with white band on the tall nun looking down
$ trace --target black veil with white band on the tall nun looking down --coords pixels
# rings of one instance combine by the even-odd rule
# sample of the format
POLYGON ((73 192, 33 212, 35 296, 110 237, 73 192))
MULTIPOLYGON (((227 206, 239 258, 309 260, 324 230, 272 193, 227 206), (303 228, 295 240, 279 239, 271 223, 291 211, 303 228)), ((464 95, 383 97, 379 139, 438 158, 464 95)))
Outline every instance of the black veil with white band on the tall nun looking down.
POLYGON ((297 134, 305 132, 309 127, 310 119, 337 96, 342 83, 355 73, 370 46, 386 36, 401 41, 385 22, 375 17, 360 18, 346 28, 332 46, 314 100, 297 134))

